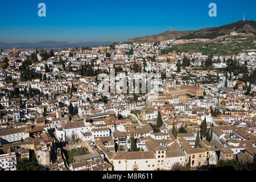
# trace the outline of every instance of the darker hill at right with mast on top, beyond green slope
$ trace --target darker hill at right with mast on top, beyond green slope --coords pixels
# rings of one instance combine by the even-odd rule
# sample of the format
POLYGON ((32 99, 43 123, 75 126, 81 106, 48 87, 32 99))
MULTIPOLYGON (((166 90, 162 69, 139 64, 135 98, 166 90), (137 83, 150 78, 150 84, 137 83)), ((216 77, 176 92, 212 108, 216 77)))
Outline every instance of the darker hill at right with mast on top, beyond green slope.
POLYGON ((227 35, 230 32, 236 31, 238 33, 253 33, 256 34, 256 22, 253 20, 238 21, 231 24, 225 24, 220 27, 203 28, 199 31, 192 32, 191 34, 181 36, 177 39, 200 39, 207 38, 212 39, 217 36, 227 35))

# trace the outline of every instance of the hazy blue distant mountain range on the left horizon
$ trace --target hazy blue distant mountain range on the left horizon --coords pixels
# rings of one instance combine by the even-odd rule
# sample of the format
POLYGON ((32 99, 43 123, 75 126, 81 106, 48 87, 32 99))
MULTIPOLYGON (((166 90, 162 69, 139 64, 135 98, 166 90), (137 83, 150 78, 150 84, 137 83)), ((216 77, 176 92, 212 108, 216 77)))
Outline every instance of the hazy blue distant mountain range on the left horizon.
POLYGON ((79 43, 68 43, 68 42, 55 42, 55 41, 44 41, 38 43, 3 43, 0 42, 0 49, 12 49, 13 47, 18 49, 62 49, 71 47, 97 47, 97 46, 108 46, 112 42, 79 42, 79 43))

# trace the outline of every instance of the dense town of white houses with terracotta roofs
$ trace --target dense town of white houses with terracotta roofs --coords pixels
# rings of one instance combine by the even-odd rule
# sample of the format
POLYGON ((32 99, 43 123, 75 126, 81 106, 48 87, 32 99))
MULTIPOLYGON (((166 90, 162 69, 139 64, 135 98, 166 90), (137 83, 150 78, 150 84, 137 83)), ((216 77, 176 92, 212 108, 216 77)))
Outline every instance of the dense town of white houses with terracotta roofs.
MULTIPOLYGON (((2 51, 1 63, 8 61, 0 68, 0 168, 16 170, 31 152, 44 168, 60 171, 171 170, 176 163, 197 168, 253 160, 256 85, 241 81, 242 73, 200 69, 208 59, 203 53, 161 53, 183 41, 2 51), (191 65, 179 68, 184 57, 191 65), (100 80, 100 73, 106 78, 100 80), (120 80, 140 85, 150 73, 147 93, 117 92, 124 88, 120 80), (209 137, 197 143, 204 122, 209 137), (61 155, 74 149, 82 155, 61 155)), ((208 40, 191 40, 198 41, 208 40)), ((225 69, 224 59, 240 60, 249 73, 255 69, 255 52, 213 56, 220 60, 213 68, 225 69)))

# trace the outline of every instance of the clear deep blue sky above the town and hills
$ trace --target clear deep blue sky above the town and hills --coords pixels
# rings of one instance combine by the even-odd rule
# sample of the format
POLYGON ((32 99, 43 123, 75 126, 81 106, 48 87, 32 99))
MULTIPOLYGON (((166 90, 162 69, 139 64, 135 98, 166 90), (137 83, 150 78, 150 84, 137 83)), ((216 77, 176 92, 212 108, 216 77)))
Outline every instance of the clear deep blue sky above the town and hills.
POLYGON ((205 1, 59 1, 0 0, 0 42, 111 41, 175 30, 199 30, 242 20, 256 20, 255 0, 205 1), (46 17, 38 4, 46 4, 46 17), (217 17, 210 17, 209 3, 217 17))

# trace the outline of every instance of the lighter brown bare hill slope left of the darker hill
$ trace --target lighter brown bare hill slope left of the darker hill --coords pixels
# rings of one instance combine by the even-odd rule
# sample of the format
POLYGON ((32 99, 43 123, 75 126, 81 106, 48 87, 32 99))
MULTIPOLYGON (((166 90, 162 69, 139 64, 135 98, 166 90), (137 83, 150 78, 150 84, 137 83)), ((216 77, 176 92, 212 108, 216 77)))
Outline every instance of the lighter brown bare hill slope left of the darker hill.
POLYGON ((162 34, 143 36, 142 38, 128 39, 127 42, 150 43, 163 40, 177 39, 192 34, 194 31, 166 31, 162 34))

